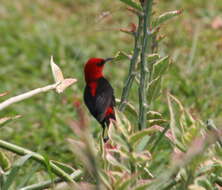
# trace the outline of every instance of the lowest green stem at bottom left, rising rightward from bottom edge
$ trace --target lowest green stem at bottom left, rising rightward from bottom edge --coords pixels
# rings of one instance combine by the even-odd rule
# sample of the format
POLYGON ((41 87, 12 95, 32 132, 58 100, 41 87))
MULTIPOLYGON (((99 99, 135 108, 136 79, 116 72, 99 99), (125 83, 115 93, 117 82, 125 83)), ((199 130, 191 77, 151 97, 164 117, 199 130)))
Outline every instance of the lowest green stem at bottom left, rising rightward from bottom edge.
MULTIPOLYGON (((71 178, 72 179, 76 179, 78 178, 80 175, 82 174, 81 170, 76 170, 73 174, 71 174, 71 178)), ((55 180, 47 180, 41 183, 37 183, 37 184, 33 184, 33 185, 29 185, 26 187, 22 187, 19 190, 41 190, 41 189, 46 189, 46 188, 50 188, 53 184, 55 183, 60 183, 63 180, 61 178, 56 178, 55 180)))

